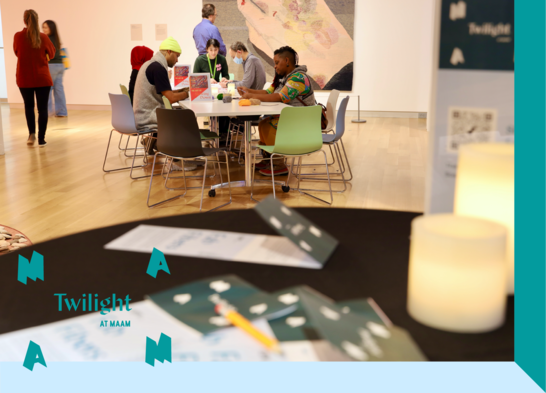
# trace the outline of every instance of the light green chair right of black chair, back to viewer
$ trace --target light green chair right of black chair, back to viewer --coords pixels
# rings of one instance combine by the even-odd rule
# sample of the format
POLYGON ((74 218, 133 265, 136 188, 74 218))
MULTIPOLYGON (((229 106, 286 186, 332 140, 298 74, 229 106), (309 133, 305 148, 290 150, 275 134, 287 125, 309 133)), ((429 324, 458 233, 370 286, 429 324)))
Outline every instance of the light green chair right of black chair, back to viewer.
MULTIPOLYGON (((258 145, 258 148, 271 154, 269 162, 271 165, 271 171, 273 172, 273 158, 276 156, 292 158, 292 167, 294 166, 295 159, 298 158, 298 170, 301 172, 301 160, 302 157, 308 156, 313 153, 322 152, 324 154, 324 165, 326 166, 326 174, 328 178, 328 187, 330 191, 330 202, 317 198, 314 195, 308 194, 301 189, 299 176, 298 176, 298 191, 302 194, 309 195, 312 198, 318 199, 331 205, 334 201, 332 195, 332 184, 330 183, 330 173, 328 171, 328 161, 326 153, 322 150, 322 130, 320 127, 320 117, 322 109, 318 105, 304 106, 304 107, 287 107, 281 112, 279 123, 277 125, 277 136, 275 138, 274 146, 262 146, 258 145)), ((254 172, 256 170, 256 158, 252 160, 252 184, 250 188, 250 198, 255 200, 254 195, 254 172)), ((284 192, 290 191, 290 173, 288 172, 288 178, 284 183, 282 189, 284 192)), ((272 173, 271 181, 273 184, 273 197, 275 197, 275 175, 272 173)), ((281 183, 282 184, 282 183, 281 183)), ((317 191, 317 190, 315 190, 317 191)))

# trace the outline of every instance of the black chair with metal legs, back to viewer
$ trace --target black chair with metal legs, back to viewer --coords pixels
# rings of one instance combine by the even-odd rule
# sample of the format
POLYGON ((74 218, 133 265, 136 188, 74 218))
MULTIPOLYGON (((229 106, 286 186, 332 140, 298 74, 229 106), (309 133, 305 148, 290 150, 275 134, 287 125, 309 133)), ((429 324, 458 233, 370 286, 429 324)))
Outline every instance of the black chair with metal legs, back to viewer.
MULTIPOLYGON (((199 211, 203 208, 203 194, 205 191, 205 180, 207 176, 207 164, 212 162, 213 164, 218 164, 218 169, 220 172, 220 182, 223 184, 222 180, 222 171, 220 164, 225 164, 227 169, 228 176, 228 187, 229 187, 229 202, 217 206, 212 210, 219 209, 223 206, 229 205, 231 203, 231 184, 229 176, 229 159, 227 152, 222 149, 217 148, 203 148, 201 145, 201 133, 199 132, 199 126, 197 124, 197 118, 195 113, 192 110, 170 110, 170 109, 161 109, 156 110, 157 115, 157 153, 154 155, 154 162, 152 166, 152 177, 150 178, 150 187, 148 189, 148 207, 154 207, 165 202, 172 201, 173 199, 181 198, 186 195, 189 189, 201 189, 201 204, 199 205, 199 211), (219 153, 224 153, 226 161, 220 161, 219 153), (188 187, 186 184, 186 171, 183 170, 183 179, 184 179, 184 193, 177 195, 172 198, 165 199, 163 201, 154 203, 150 205, 150 193, 152 190, 152 181, 154 179, 153 173, 155 169, 155 163, 158 156, 166 157, 166 164, 168 162, 167 177, 165 178, 164 186, 167 186, 169 181, 169 174, 171 172, 171 166, 173 160, 179 159, 182 161, 182 167, 184 167, 184 160, 204 160, 205 165, 203 167, 203 183, 201 187, 188 187), (216 156, 216 159, 211 159, 210 156, 216 156)), ((169 190, 176 190, 182 188, 168 188, 169 190)), ((215 193, 209 192, 209 195, 214 196, 215 193)))

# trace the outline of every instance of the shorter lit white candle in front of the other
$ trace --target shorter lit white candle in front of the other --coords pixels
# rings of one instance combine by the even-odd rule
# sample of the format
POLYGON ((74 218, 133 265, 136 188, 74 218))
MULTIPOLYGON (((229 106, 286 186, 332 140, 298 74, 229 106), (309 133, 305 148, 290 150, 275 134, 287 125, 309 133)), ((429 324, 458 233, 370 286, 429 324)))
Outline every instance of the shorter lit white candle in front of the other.
POLYGON ((504 323, 506 228, 453 214, 411 226, 408 312, 442 330, 486 332, 504 323))

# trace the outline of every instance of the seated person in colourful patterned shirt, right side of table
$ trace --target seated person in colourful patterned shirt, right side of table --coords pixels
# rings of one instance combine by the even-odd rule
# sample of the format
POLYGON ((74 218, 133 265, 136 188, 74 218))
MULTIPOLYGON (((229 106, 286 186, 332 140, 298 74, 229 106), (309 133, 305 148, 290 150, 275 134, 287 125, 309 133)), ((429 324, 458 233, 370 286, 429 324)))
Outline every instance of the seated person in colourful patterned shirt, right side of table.
MULTIPOLYGON (((298 65, 298 54, 289 46, 283 46, 274 52, 275 79, 267 90, 253 90, 246 87, 238 88, 243 98, 257 98, 264 102, 282 102, 291 106, 316 105, 315 94, 307 75, 307 66, 298 65)), ((279 116, 267 116, 260 121, 260 145, 273 146, 277 135, 279 116)), ((267 153, 264 152, 264 157, 267 153)), ((288 168, 284 159, 274 160, 273 173, 286 175, 288 168)), ((256 164, 256 169, 265 176, 271 176, 269 160, 256 164)))

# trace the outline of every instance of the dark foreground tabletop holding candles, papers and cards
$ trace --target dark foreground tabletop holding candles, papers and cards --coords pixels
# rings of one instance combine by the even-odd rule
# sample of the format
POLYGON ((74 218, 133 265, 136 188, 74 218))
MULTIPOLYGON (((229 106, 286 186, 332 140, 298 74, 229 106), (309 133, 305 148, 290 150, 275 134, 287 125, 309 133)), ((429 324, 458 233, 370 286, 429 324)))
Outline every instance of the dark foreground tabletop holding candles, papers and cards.
MULTIPOLYGON (((167 256, 171 275, 146 274, 149 254, 108 251, 103 246, 142 222, 116 225, 37 244, 45 258, 45 281, 17 281, 17 255, 0 257, 0 333, 84 314, 57 311, 54 293, 80 298, 96 293, 144 295, 190 281, 236 274, 265 291, 306 284, 335 301, 373 297, 395 325, 407 329, 430 360, 514 360, 514 301, 509 298, 505 325, 486 334, 455 334, 428 328, 406 312, 409 235, 415 213, 357 209, 297 209, 328 230, 340 245, 322 270, 167 256)), ((191 214, 144 221, 274 235, 253 210, 191 214)))

